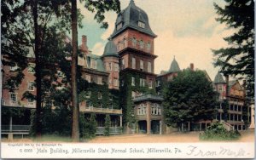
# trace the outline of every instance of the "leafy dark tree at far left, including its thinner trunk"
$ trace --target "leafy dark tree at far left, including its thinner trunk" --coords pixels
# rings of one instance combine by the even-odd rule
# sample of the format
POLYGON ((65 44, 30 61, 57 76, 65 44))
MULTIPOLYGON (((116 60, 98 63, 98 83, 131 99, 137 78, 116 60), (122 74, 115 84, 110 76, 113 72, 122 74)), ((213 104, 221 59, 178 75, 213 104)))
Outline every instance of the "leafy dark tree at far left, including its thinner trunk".
MULTIPOLYGON (((24 77, 22 71, 28 66, 28 62, 35 63, 37 94, 26 92, 24 98, 36 100, 35 126, 37 136, 40 136, 44 93, 53 82, 60 83, 57 81, 56 72, 65 68, 61 67, 63 63, 68 63, 63 39, 71 26, 70 3, 65 0, 10 0, 3 1, 1 7, 3 65, 19 66, 15 76, 9 77, 7 89, 15 89, 20 84, 24 77), (30 49, 35 57, 28 61, 26 55, 30 49)), ((78 22, 81 26, 81 14, 78 22)))

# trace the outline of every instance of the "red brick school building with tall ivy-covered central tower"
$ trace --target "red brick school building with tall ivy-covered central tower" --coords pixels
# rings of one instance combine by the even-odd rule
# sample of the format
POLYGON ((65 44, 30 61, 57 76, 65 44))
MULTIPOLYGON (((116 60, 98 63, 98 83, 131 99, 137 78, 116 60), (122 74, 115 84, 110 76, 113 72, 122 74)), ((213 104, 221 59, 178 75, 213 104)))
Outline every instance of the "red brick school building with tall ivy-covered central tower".
MULTIPOLYGON (((100 129, 98 134, 102 134, 101 129, 107 114, 111 116, 113 127, 125 125, 127 133, 166 134, 170 131, 164 122, 162 89, 165 83, 177 76, 180 68, 174 58, 168 71, 161 71, 160 75, 154 73, 154 60, 157 58, 154 54, 156 37, 149 26, 148 15, 133 0, 118 14, 114 31, 101 56, 92 54, 87 46, 87 37, 82 36, 79 66, 82 67, 82 77, 89 83, 89 87, 80 96, 82 98, 79 99, 79 107, 84 114, 96 113, 100 129)), ((67 37, 65 42, 70 43, 71 39, 67 37)), ((30 117, 29 110, 35 108, 35 101, 22 99, 24 92, 35 94, 36 90, 33 86, 33 56, 28 59, 31 59, 31 63, 23 71, 25 77, 20 86, 15 91, 5 88, 2 90, 2 106, 28 109, 25 120, 21 122, 9 118, 2 121, 5 125, 30 124, 26 117, 30 117)), ((194 70, 194 65, 190 64, 189 68, 194 70)), ((3 66, 3 71, 4 84, 9 74, 15 74, 15 68, 3 66)), ((61 78, 61 72, 57 74, 61 78)), ((211 81, 207 72, 206 76, 211 81)), ((226 83, 218 73, 213 84, 219 92, 219 100, 230 101, 227 123, 235 129, 244 129, 244 123, 241 122, 244 94, 239 82, 226 83)), ((222 112, 220 106, 217 119, 222 120, 222 112)), ((202 123, 207 127, 210 122, 201 122, 201 125, 202 123)))

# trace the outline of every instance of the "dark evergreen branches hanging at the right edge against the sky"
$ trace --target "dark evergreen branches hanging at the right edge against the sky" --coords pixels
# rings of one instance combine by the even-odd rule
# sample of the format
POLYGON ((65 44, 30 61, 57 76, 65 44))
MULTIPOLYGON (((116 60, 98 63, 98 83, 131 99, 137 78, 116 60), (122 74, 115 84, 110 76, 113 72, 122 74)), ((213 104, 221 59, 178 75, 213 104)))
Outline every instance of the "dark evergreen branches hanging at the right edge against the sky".
POLYGON ((254 96, 254 1, 225 0, 224 8, 214 3, 219 17, 216 19, 235 29, 230 37, 224 37, 230 47, 212 49, 218 57, 214 62, 224 75, 244 76, 247 79, 248 96, 254 96))

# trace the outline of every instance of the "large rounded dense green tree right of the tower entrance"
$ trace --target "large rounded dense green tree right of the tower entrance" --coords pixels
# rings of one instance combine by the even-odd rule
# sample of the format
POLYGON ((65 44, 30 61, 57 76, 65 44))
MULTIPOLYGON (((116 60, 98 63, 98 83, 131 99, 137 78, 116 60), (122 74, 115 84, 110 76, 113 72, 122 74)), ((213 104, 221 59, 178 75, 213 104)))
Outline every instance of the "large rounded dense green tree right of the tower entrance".
POLYGON ((212 120, 217 94, 203 71, 189 69, 177 73, 164 89, 164 112, 168 126, 212 120))

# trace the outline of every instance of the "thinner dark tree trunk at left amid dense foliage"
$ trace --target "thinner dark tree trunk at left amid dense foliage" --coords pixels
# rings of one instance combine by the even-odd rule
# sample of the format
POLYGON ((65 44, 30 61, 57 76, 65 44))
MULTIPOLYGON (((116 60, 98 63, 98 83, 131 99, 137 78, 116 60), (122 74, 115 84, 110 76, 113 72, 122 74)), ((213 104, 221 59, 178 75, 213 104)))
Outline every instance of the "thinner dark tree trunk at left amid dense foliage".
POLYGON ((39 32, 38 32, 38 0, 34 0, 33 5, 33 21, 34 21, 34 34, 35 34, 35 77, 36 77, 36 135, 41 137, 42 121, 41 121, 41 66, 39 56, 39 32))

